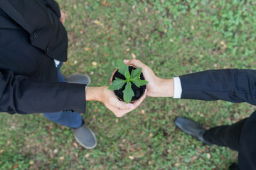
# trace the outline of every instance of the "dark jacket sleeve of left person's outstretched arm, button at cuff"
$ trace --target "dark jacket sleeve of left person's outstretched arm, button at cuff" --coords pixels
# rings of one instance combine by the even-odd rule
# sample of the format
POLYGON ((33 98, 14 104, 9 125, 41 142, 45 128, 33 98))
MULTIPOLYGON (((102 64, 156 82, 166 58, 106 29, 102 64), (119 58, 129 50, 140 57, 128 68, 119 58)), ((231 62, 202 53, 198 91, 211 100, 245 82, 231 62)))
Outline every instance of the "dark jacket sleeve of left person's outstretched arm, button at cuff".
POLYGON ((85 113, 85 85, 39 81, 0 72, 0 111, 11 114, 85 113))

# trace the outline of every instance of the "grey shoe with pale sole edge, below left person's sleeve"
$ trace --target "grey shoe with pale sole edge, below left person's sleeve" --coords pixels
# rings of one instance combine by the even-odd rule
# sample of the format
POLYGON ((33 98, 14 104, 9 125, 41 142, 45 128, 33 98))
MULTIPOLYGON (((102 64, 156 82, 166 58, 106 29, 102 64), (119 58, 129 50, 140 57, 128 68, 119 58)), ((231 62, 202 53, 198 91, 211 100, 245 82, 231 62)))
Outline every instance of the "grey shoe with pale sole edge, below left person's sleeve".
POLYGON ((86 149, 93 149, 97 146, 97 139, 94 132, 87 128, 85 123, 80 128, 72 128, 75 140, 86 149))

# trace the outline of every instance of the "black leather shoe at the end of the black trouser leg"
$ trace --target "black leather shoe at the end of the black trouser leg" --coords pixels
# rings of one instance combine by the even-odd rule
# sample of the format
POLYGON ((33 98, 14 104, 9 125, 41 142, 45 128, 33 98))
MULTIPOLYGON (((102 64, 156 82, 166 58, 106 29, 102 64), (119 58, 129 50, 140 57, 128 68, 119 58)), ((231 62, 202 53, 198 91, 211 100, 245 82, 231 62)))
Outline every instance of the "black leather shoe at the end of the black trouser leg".
POLYGON ((174 120, 174 124, 186 134, 196 137, 206 145, 212 145, 210 142, 203 139, 203 133, 206 132, 206 129, 195 121, 188 118, 177 117, 174 120))

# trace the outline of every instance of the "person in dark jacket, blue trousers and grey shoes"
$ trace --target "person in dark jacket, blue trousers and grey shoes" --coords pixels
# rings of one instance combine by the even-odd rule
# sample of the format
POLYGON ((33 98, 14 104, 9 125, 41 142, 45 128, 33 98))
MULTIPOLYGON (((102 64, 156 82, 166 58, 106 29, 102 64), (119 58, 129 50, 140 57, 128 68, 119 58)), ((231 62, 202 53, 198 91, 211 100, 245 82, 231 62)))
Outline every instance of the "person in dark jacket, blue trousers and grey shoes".
POLYGON ((85 75, 63 77, 60 67, 68 49, 64 22, 54 0, 0 1, 0 112, 45 113, 72 128, 78 143, 92 149, 97 140, 80 115, 85 101, 100 101, 121 117, 144 98, 126 104, 107 86, 87 87, 90 78, 85 75))

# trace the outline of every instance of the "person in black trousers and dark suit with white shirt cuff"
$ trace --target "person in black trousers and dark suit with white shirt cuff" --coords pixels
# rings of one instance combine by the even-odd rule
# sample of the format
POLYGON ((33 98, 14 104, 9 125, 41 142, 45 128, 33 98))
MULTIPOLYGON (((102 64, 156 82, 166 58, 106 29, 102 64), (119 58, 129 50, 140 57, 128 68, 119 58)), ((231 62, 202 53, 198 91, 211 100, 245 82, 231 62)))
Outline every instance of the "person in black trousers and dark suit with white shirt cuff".
MULTIPOLYGON (((139 60, 124 60, 127 64, 142 67, 147 96, 223 100, 247 102, 256 106, 256 70, 219 69, 186 74, 174 79, 160 79, 139 60)), ((230 169, 256 169, 256 111, 249 118, 233 125, 222 125, 206 130, 188 118, 178 117, 175 125, 188 135, 207 145, 230 147, 238 151, 238 164, 230 169)))

